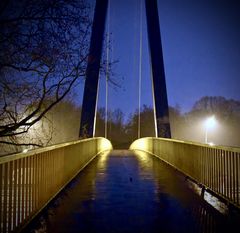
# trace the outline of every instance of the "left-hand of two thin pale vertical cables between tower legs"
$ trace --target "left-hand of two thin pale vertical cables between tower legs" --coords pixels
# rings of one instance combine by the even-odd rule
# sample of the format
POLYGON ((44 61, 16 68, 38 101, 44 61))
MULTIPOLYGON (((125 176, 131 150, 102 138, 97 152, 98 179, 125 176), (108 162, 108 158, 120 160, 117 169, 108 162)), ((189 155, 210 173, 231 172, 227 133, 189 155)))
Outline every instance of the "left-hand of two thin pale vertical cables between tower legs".
POLYGON ((109 50, 110 50, 110 3, 108 5, 108 16, 107 16, 107 43, 106 43, 106 80, 105 80, 105 138, 108 136, 107 128, 108 128, 108 81, 109 81, 109 50))

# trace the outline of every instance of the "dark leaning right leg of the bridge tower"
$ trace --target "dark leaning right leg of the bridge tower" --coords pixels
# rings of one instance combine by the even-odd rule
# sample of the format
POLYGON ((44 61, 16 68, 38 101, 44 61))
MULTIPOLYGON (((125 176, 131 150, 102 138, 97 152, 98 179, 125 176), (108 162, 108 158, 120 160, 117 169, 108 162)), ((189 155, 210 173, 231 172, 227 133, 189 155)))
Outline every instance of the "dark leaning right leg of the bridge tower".
POLYGON ((152 66, 156 136, 171 138, 157 0, 145 0, 152 66))

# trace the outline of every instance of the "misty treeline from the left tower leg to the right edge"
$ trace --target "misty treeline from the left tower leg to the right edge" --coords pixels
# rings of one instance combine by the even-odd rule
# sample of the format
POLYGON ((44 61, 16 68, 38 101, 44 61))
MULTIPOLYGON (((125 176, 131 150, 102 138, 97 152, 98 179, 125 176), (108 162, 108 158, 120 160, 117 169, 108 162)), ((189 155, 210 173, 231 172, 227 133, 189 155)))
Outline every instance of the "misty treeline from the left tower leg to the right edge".
MULTIPOLYGON (((115 110, 116 111, 116 110, 115 110)), ((126 147, 138 137, 138 111, 123 121, 123 112, 109 112, 108 138, 116 148, 126 147), (118 119, 118 120, 117 120, 118 119)), ((141 137, 155 136, 153 109, 144 105, 140 113, 141 137)), ((208 142, 216 145, 240 146, 240 101, 226 99, 221 96, 205 96, 199 99, 187 113, 181 113, 180 107, 170 107, 170 124, 172 138, 204 143, 206 126, 205 121, 214 115, 217 124, 208 130, 208 142)), ((96 125, 96 135, 104 136, 105 110, 99 109, 96 125)))

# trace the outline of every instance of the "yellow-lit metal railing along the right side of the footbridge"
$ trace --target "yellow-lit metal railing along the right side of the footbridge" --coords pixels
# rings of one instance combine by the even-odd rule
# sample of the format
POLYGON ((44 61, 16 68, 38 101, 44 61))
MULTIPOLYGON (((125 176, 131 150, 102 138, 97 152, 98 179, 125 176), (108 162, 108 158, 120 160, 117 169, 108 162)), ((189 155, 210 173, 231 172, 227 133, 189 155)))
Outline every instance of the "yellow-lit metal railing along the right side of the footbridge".
POLYGON ((130 149, 150 152, 240 207, 240 149, 163 138, 141 138, 130 149))

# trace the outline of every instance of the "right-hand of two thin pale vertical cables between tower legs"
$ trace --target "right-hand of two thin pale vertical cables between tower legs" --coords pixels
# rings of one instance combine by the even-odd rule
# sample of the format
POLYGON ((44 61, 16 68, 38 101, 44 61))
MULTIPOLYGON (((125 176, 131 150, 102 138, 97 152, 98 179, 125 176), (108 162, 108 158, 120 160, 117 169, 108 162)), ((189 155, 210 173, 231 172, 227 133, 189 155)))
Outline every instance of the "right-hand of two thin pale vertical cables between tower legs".
POLYGON ((138 79, 138 138, 141 137, 141 89, 142 89, 142 1, 140 1, 140 33, 139 33, 139 79, 138 79))

